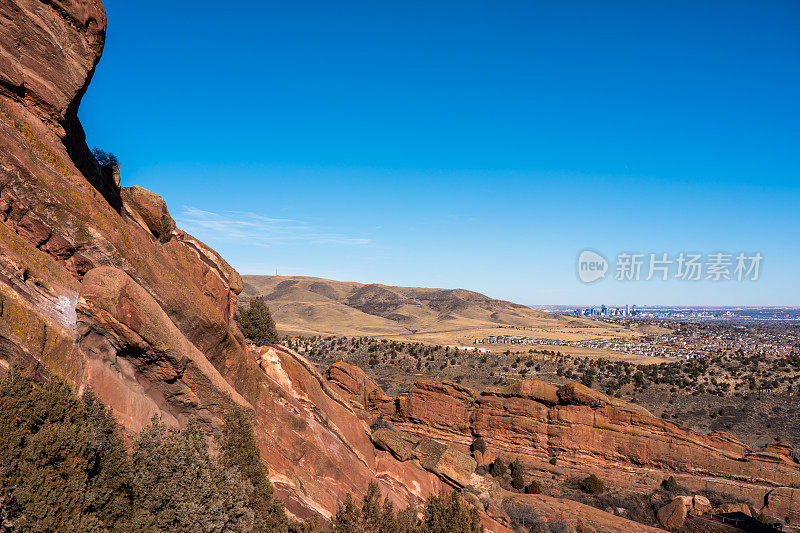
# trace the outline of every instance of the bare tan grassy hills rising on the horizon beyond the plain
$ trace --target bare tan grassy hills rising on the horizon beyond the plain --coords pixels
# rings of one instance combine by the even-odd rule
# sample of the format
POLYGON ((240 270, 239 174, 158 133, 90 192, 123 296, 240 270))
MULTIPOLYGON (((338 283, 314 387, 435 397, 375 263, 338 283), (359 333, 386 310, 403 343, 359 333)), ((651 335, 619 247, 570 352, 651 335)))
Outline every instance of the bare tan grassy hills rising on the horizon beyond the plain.
POLYGON ((395 287, 306 276, 242 276, 240 296, 270 305, 290 333, 401 335, 428 330, 533 327, 569 319, 465 289, 395 287))

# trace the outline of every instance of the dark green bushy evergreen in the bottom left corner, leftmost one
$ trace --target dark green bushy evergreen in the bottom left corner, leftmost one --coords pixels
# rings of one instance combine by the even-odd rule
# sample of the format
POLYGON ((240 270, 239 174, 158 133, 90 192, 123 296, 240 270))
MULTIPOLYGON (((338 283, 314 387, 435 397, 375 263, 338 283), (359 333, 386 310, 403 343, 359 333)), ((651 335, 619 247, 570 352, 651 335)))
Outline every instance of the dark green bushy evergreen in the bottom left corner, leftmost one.
POLYGON ((127 530, 130 500, 110 494, 125 483, 124 449, 88 394, 16 369, 0 381, 0 500, 15 531, 127 530))

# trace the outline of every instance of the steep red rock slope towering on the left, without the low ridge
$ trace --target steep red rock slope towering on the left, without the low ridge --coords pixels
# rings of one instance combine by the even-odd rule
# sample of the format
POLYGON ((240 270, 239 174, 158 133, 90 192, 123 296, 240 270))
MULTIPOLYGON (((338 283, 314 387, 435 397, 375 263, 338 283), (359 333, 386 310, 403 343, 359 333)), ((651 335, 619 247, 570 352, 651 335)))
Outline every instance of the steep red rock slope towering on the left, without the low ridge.
POLYGON ((0 21, 0 374, 22 365, 91 386, 131 434, 153 415, 211 431, 231 402, 252 408, 276 491, 300 517, 329 516, 373 479, 398 506, 443 490, 376 450, 308 361, 245 345, 239 274, 158 195, 120 190, 118 169, 95 161, 77 109, 103 48, 102 3, 4 0, 0 21))

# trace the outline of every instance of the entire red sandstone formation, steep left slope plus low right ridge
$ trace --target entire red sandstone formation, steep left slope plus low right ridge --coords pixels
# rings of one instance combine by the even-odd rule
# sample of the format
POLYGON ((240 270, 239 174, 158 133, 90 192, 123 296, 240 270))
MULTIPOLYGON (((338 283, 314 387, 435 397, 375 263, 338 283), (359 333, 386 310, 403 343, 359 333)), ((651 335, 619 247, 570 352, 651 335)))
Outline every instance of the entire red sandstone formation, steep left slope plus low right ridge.
POLYGON ((527 498, 600 531, 648 530, 575 502, 503 493, 465 453, 483 435, 493 453, 543 472, 557 455, 553 475, 603 469, 644 489, 669 472, 800 518, 800 491, 789 487, 800 470, 784 450, 752 452, 580 386, 476 393, 420 382, 395 400, 353 367, 322 376, 289 350, 248 348, 232 320, 239 274, 176 228, 160 197, 120 189, 117 169, 86 147, 77 109, 102 52, 100 1, 0 0, 0 22, 0 372, 19 364, 91 385, 130 432, 153 414, 210 428, 230 402, 246 405, 277 492, 301 517, 329 516, 345 492, 378 479, 398 504, 467 486, 500 521, 497 504, 527 498), (413 438, 371 434, 378 414, 413 438))

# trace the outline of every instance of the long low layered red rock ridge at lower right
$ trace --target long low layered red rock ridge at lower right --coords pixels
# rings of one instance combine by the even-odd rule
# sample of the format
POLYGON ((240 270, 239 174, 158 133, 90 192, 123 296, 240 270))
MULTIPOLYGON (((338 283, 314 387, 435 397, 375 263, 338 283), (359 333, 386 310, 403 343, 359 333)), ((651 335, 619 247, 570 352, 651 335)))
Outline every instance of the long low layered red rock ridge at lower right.
POLYGON ((580 479, 602 472, 612 486, 649 492, 674 475, 692 490, 746 497, 777 517, 800 518, 800 465, 785 445, 753 451, 722 432, 702 435, 644 408, 572 383, 528 380, 480 393, 420 381, 398 396, 395 428, 464 452, 475 437, 487 457, 520 458, 529 470, 580 479))

